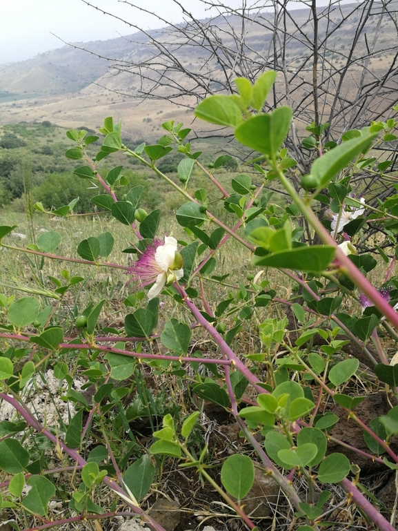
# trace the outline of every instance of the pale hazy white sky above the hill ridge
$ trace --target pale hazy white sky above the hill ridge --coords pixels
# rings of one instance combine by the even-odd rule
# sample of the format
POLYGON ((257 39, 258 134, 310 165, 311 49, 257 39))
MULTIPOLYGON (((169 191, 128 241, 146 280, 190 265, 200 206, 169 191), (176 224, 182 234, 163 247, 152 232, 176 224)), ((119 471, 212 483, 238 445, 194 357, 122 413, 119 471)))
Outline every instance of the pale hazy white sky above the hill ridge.
MULTIPOLYGON (((132 2, 134 0, 131 0, 132 2)), ((206 17, 199 0, 182 0, 186 9, 206 17)), ((122 19, 146 28, 159 28, 159 21, 118 0, 90 0, 122 19)), ((138 6, 182 21, 181 11, 172 0, 136 0, 138 6)), ((239 0, 230 0, 238 5, 239 0)), ((0 64, 30 59, 40 52, 53 50, 68 42, 106 40, 129 35, 135 30, 112 17, 102 15, 81 0, 0 0, 0 64)))

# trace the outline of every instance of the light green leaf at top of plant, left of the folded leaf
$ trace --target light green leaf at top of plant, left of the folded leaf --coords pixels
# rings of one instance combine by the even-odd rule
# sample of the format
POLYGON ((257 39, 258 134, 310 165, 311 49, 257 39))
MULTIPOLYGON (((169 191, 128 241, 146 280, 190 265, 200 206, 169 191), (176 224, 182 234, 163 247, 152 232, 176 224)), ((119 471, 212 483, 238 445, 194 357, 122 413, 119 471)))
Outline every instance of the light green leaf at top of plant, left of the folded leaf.
POLYGON ((229 96, 215 95, 203 99, 195 108, 195 116, 219 126, 235 127, 242 121, 239 106, 229 96))

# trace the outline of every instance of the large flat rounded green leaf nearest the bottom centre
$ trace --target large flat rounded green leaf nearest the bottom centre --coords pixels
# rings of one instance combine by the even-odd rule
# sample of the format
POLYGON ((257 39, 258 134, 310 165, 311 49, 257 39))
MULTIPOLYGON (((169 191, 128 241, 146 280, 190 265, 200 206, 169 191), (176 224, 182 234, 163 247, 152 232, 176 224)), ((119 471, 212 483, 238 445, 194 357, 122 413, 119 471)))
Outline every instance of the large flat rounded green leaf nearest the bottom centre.
POLYGON ((248 456, 235 454, 221 467, 221 483, 228 494, 241 500, 248 494, 255 481, 255 466, 248 456))

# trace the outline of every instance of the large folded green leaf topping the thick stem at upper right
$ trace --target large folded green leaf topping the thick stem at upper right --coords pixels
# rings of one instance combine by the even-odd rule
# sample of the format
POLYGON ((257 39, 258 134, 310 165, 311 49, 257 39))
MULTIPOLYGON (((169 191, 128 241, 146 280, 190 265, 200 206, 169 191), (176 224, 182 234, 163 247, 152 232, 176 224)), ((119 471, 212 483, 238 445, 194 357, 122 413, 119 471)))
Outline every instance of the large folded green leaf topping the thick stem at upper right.
POLYGON ((292 109, 279 107, 272 113, 253 116, 241 123, 235 129, 235 137, 243 146, 275 157, 288 134, 291 119, 292 109))

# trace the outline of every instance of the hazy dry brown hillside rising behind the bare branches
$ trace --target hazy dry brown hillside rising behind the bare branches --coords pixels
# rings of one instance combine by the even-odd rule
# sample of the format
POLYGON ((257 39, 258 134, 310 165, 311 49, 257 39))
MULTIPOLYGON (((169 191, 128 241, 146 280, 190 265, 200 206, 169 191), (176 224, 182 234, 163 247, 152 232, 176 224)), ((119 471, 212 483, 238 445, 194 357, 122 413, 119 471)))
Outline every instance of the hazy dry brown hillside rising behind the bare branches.
MULTIPOLYGON (((390 3, 391 15, 395 13, 395 7, 392 6, 396 5, 396 1, 390 3)), ((375 16, 370 17, 362 28, 355 57, 350 59, 353 61, 352 70, 341 87, 347 96, 350 96, 350 91, 355 88, 363 72, 372 82, 373 78, 380 78, 393 64, 392 43, 397 38, 395 15, 384 16, 381 35, 378 26, 379 6, 381 4, 374 4, 372 10, 375 16), (364 65, 364 55, 373 41, 372 55, 364 65)), ((332 68, 344 69, 348 55, 346 50, 349 50, 355 38, 358 17, 363 12, 361 9, 357 4, 346 4, 336 6, 329 19, 319 16, 320 41, 324 32, 330 32, 332 28, 331 42, 324 55, 327 64, 321 65, 322 75, 326 73, 327 77, 327 71, 332 68), (346 19, 344 26, 340 26, 341 19, 346 19)), ((240 17, 231 15, 204 21, 203 27, 208 24, 222 44, 223 53, 232 57, 237 53, 237 41, 232 35, 240 23, 240 17)), ((271 26, 270 13, 259 14, 256 20, 246 20, 246 55, 252 57, 261 71, 264 66, 273 68, 277 53, 278 65, 281 65, 277 70, 283 68, 291 86, 295 90, 299 88, 294 99, 309 97, 307 107, 310 108, 312 60, 308 59, 311 52, 307 37, 311 38, 313 28, 309 10, 292 12, 286 21, 284 34, 281 32, 279 49, 275 52, 272 51, 272 32, 267 30, 271 26)), ((217 45, 221 46, 219 43, 217 45)), ((131 135, 148 137, 150 134, 155 135, 161 122, 166 119, 174 118, 183 122, 192 119, 190 109, 195 106, 197 99, 190 97, 189 93, 191 90, 195 93, 199 85, 197 79, 206 75, 212 80, 211 87, 214 90, 222 89, 223 71, 211 57, 210 48, 201 48, 194 41, 183 44, 181 37, 176 36, 170 28, 154 30, 147 35, 136 32, 107 41, 74 43, 42 53, 28 61, 0 65, 0 123, 49 120, 61 126, 84 124, 95 128, 102 117, 114 115, 116 119, 123 119, 131 135), (153 46, 154 39, 172 49, 174 59, 159 55, 159 47, 153 46), (173 64, 175 60, 179 68, 173 64), (189 75, 183 75, 181 68, 189 75), (167 87, 162 84, 156 86, 161 78, 168 79, 167 87), (181 87, 188 94, 185 98, 181 97, 181 87), (150 90, 155 99, 145 99, 150 90), (179 106, 159 99, 165 95, 174 99, 179 106)), ((279 79, 282 79, 281 75, 279 79)), ((335 82, 331 79, 328 84, 330 86, 325 90, 332 93, 335 82)), ((282 86, 281 90, 284 90, 282 86)))

